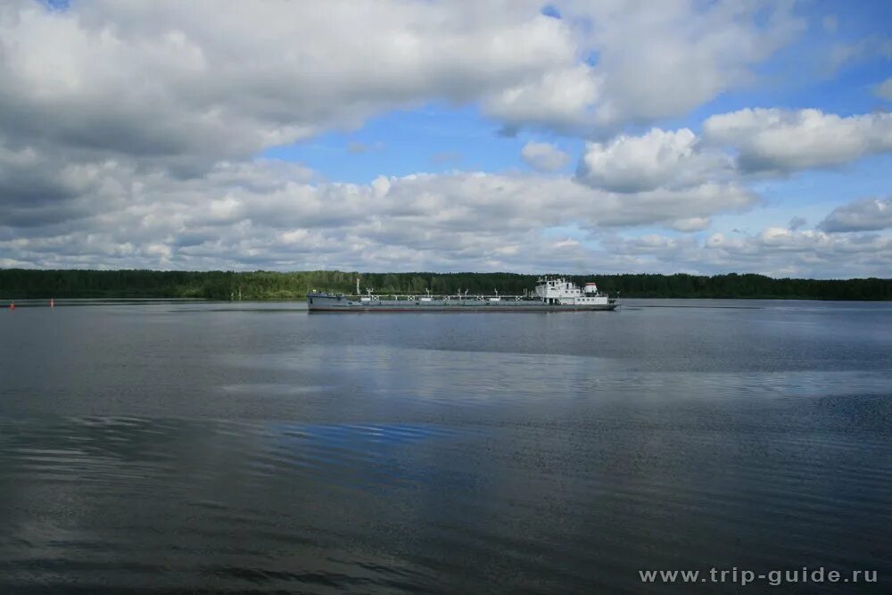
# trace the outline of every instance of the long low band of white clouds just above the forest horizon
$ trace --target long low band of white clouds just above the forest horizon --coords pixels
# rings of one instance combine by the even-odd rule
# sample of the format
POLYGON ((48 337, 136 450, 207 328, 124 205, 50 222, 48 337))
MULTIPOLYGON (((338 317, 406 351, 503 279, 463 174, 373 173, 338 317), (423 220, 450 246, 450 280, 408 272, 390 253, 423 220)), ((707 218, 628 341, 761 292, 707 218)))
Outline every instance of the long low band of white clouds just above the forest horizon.
MULTIPOLYGON (((8 227, 8 210, 0 212, 5 266, 516 271, 594 266, 882 277, 892 265, 892 238, 876 233, 770 227, 755 235, 702 239, 650 231, 620 236, 633 233, 630 226, 703 230, 711 216, 747 209, 758 200, 732 183, 615 193, 567 177, 454 172, 357 185, 313 182, 310 171, 277 161, 221 164, 205 178, 188 179, 111 163, 93 171, 87 186, 72 187, 74 196, 67 200, 82 208, 70 217, 44 220, 41 205, 26 203, 17 214, 33 215, 32 227, 25 229, 8 227), (566 227, 578 234, 545 231, 566 227)), ((888 205, 883 208, 888 211, 888 205)), ((868 217, 878 219, 876 211, 868 217)), ((831 219, 841 220, 838 213, 831 219)))

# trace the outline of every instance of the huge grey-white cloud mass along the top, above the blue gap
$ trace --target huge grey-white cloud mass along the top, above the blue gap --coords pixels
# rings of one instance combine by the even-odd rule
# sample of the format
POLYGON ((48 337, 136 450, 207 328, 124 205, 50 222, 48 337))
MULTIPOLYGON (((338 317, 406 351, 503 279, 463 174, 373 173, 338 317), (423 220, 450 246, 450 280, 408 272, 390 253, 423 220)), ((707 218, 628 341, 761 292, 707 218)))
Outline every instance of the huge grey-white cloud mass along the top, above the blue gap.
POLYGON ((0 127, 184 173, 431 99, 585 134, 749 79, 799 27, 758 4, 568 1, 555 19, 532 0, 13 0, 0 7, 0 127))

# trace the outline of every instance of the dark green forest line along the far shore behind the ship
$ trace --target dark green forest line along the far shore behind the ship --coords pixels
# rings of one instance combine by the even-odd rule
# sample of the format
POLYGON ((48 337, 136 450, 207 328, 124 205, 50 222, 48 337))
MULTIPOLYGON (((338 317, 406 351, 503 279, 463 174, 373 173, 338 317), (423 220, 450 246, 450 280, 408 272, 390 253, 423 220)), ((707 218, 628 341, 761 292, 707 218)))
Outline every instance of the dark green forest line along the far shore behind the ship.
MULTIPOLYGON (((357 273, 314 270, 158 271, 0 269, 0 298, 202 298, 296 300, 311 290, 353 293, 524 293, 538 276, 514 273, 357 273)), ((892 279, 792 279, 764 275, 574 275, 620 297, 892 300, 892 279)))

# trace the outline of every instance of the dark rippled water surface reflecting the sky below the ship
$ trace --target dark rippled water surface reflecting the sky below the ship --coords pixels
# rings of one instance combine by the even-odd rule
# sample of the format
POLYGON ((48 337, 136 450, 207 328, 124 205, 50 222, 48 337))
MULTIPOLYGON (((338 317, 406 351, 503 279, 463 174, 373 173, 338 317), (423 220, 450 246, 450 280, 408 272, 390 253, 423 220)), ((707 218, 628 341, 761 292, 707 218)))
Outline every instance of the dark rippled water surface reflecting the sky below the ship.
POLYGON ((0 590, 888 591, 890 386, 892 304, 4 310, 0 590))

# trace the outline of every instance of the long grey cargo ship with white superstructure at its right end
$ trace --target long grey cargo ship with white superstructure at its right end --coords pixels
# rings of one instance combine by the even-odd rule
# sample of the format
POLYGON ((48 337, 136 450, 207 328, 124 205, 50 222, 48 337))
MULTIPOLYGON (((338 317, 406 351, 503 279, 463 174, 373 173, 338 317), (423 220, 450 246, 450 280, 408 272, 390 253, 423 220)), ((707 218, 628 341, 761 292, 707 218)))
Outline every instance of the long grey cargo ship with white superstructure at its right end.
POLYGON ((552 312, 580 310, 615 310, 619 302, 600 292, 593 281, 582 288, 565 277, 541 277, 532 292, 523 295, 468 295, 467 290, 448 295, 420 294, 377 295, 366 293, 310 292, 307 308, 311 312, 552 312))

